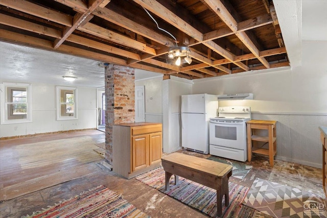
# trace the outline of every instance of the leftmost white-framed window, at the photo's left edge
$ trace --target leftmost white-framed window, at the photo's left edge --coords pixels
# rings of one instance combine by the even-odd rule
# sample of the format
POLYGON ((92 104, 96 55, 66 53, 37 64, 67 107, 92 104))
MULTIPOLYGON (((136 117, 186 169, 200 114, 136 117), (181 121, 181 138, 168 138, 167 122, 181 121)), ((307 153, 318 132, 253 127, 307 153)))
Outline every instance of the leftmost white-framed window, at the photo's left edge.
POLYGON ((32 122, 32 84, 1 83, 1 124, 32 122))

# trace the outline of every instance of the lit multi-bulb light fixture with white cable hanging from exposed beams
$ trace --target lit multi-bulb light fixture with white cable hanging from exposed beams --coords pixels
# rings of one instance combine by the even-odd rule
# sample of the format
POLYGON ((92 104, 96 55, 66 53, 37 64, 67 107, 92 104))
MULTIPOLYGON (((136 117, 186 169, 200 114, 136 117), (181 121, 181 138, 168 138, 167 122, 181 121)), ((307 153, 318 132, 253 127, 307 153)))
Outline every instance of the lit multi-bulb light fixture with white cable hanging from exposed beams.
POLYGON ((188 64, 191 64, 192 63, 192 58, 190 57, 190 54, 191 54, 191 50, 189 49, 189 47, 186 47, 186 46, 178 46, 177 44, 177 39, 168 31, 162 29, 159 27, 157 21, 153 18, 153 16, 151 16, 151 14, 149 13, 149 11, 145 8, 143 8, 147 14, 152 18, 152 20, 156 23, 157 25, 157 28, 161 31, 164 31, 166 33, 168 33, 171 37, 173 37, 173 39, 175 39, 175 43, 176 43, 176 46, 174 47, 171 47, 169 49, 169 52, 168 52, 168 57, 171 58, 171 59, 174 59, 177 57, 177 60, 175 62, 175 64, 177 66, 180 65, 181 63, 181 57, 185 57, 184 60, 188 63, 188 64))

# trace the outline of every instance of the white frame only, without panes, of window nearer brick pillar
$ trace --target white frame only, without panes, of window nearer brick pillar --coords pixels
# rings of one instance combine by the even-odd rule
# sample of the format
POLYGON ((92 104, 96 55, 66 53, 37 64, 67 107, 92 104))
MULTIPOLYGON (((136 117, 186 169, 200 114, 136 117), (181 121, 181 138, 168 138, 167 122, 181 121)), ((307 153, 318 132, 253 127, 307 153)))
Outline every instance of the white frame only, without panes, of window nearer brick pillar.
POLYGON ((78 119, 78 104, 77 104, 77 87, 71 87, 71 86, 56 86, 56 105, 57 105, 57 120, 72 120, 72 119, 78 119), (61 90, 69 90, 73 91, 74 94, 74 102, 69 104, 74 104, 74 115, 73 116, 61 116, 61 105, 67 104, 66 102, 60 101, 60 92, 61 90))

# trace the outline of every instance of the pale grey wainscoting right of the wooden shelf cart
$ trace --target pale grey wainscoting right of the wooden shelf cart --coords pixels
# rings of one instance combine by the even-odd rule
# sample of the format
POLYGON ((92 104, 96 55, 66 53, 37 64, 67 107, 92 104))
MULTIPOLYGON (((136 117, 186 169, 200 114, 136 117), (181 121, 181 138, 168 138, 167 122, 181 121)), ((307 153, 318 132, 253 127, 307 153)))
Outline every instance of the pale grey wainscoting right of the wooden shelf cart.
POLYGON ((326 115, 252 113, 252 119, 276 120, 276 159, 322 168, 319 126, 326 115))

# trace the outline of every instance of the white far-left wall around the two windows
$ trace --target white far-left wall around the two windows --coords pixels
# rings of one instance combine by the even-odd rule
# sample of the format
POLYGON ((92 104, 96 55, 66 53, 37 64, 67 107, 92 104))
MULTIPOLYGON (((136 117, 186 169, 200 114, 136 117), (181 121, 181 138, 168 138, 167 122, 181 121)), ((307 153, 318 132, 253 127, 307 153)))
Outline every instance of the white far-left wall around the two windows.
POLYGON ((96 88, 78 87, 78 119, 57 121, 56 85, 32 83, 32 86, 33 122, 0 125, 0 137, 97 128, 96 88))

